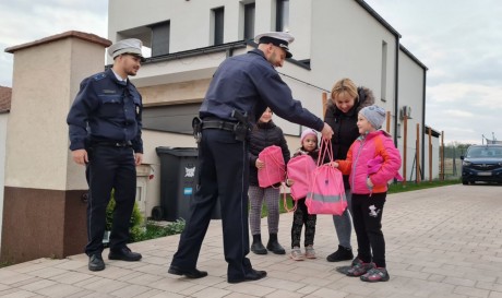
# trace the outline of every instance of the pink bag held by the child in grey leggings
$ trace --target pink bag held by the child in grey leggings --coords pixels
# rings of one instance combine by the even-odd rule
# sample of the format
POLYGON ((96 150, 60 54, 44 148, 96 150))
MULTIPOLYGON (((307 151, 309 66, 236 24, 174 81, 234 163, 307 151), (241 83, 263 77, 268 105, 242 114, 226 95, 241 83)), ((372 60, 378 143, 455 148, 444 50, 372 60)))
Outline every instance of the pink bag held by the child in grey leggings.
POLYGON ((279 146, 272 145, 265 147, 258 158, 265 163, 265 167, 258 170, 258 182, 261 188, 267 188, 286 178, 286 166, 284 163, 283 151, 279 146))

